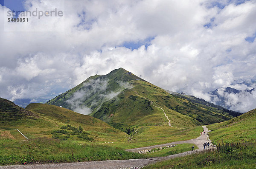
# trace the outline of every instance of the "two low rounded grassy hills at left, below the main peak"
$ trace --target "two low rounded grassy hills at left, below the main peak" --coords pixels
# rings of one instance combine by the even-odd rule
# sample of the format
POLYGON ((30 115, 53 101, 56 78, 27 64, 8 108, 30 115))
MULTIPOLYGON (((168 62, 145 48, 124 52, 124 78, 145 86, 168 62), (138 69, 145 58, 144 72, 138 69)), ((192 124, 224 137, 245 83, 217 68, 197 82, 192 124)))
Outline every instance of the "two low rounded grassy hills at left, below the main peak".
MULTIPOLYGON (((39 136, 52 137, 52 132, 69 125, 81 126, 88 138, 100 141, 123 141, 126 133, 117 130, 105 122, 89 115, 48 104, 29 104, 26 109, 12 101, 0 98, 0 130, 7 132, 18 129, 28 138, 39 136)), ((75 140, 80 138, 71 135, 75 140)))

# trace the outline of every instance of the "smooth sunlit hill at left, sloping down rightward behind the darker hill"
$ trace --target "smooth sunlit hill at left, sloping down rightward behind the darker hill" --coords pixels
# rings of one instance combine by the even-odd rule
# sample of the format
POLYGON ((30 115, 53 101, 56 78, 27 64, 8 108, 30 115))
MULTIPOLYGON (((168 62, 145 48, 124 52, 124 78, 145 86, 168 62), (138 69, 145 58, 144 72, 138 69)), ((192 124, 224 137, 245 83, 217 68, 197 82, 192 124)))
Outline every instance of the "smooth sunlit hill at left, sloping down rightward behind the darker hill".
POLYGON ((120 130, 116 130, 110 125, 106 124, 97 118, 93 118, 89 115, 82 115, 80 113, 73 112, 66 108, 58 107, 48 104, 29 104, 26 107, 34 113, 37 113, 41 117, 47 118, 50 121, 56 121, 63 124, 71 124, 78 127, 81 125, 84 131, 96 136, 93 137, 96 140, 105 140, 105 138, 111 138, 110 141, 116 141, 126 139, 125 133, 120 130))

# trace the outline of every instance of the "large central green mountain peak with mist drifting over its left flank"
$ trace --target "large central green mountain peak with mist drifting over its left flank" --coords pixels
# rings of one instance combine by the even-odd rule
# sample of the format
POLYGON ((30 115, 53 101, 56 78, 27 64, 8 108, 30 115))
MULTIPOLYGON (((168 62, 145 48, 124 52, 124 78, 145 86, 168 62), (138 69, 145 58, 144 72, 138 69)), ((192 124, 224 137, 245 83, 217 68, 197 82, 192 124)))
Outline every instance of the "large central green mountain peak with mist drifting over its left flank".
POLYGON ((167 93, 123 68, 91 76, 47 104, 88 113, 126 132, 135 126, 167 125, 169 120, 164 113, 173 127, 212 124, 234 117, 167 93))

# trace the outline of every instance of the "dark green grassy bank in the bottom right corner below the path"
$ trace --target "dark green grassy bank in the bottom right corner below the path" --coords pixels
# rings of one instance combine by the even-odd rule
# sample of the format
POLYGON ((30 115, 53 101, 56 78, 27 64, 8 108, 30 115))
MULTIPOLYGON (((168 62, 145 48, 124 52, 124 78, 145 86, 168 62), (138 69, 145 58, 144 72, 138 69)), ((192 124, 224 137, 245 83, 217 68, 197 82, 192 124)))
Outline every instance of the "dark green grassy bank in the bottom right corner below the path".
POLYGON ((222 146, 203 152, 146 166, 145 169, 255 169, 256 144, 222 146))

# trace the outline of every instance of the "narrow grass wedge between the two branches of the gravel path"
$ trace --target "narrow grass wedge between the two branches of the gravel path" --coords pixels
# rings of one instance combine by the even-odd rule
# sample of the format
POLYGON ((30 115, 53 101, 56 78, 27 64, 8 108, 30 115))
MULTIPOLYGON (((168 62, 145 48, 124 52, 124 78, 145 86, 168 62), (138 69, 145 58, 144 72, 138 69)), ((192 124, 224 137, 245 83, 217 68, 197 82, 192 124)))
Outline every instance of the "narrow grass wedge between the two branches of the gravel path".
POLYGON ((163 147, 160 151, 159 151, 159 149, 152 149, 156 152, 146 153, 145 155, 148 158, 150 158, 150 157, 165 157, 168 155, 174 155, 174 154, 178 154, 181 152, 191 151, 193 145, 194 145, 194 150, 198 149, 198 147, 195 146, 195 144, 177 144, 174 147, 169 147, 169 148, 163 147))

